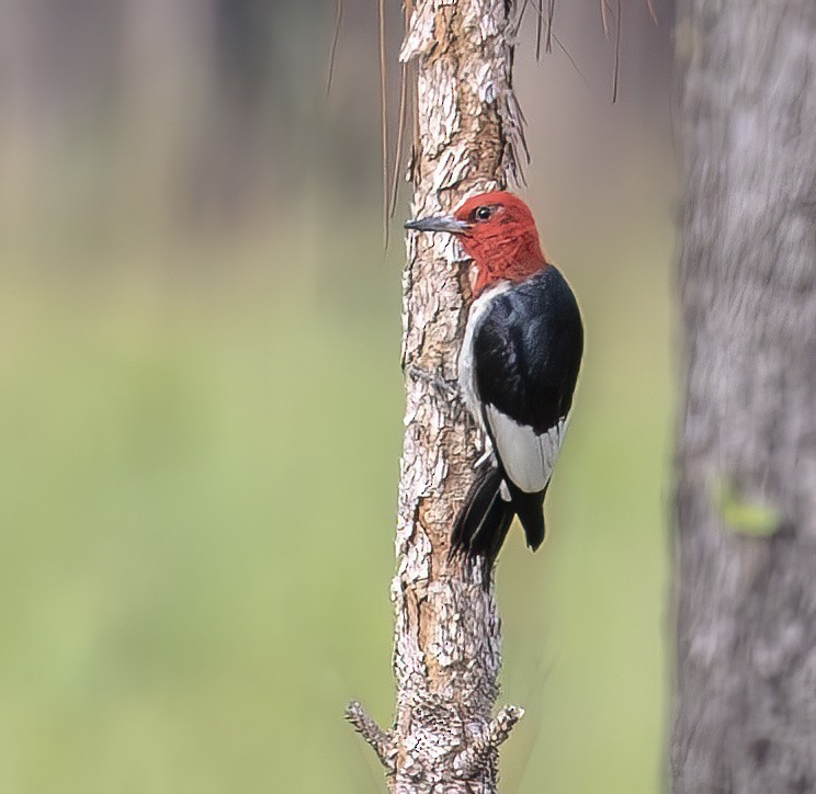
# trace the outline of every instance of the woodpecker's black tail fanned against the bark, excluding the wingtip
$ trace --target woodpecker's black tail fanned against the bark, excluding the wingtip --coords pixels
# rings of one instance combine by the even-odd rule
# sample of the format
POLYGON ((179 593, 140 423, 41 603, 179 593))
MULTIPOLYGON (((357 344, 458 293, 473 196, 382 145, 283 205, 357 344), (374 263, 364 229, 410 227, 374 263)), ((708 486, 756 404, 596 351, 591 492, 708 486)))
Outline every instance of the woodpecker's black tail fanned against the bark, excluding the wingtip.
POLYGON ((501 498, 503 473, 487 468, 476 478, 453 528, 452 551, 494 560, 505 542, 514 510, 501 498))

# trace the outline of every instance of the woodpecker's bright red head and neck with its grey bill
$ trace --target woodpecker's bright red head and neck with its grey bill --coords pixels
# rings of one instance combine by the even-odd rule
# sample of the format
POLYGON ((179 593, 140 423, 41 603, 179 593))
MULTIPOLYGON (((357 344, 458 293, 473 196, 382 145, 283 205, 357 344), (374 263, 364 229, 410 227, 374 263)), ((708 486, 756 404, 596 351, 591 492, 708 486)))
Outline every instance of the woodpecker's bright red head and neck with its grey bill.
POLYGON ((471 196, 453 216, 409 220, 406 227, 457 235, 473 259, 474 295, 501 281, 523 281, 547 266, 530 207, 505 191, 471 196))

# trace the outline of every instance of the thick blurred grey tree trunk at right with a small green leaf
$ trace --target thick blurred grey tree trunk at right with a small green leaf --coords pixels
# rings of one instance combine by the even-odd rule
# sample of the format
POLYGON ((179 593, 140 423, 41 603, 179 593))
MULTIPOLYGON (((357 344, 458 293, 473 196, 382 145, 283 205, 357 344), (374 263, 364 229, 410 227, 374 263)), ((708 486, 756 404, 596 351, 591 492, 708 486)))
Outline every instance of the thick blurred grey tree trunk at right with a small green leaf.
POLYGON ((816 2, 688 5, 675 791, 816 792, 816 2))

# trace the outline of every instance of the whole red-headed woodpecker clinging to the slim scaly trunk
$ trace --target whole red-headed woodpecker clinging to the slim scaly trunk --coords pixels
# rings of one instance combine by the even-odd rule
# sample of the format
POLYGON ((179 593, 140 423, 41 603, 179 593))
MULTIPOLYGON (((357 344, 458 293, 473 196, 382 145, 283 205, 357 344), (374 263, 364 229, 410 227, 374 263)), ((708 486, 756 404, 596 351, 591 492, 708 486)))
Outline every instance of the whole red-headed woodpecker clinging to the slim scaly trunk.
POLYGON ((530 208, 512 193, 474 195, 453 215, 405 226, 455 235, 472 260, 458 383, 485 432, 487 465, 477 464, 452 551, 494 560, 513 515, 535 551, 583 351, 575 295, 544 256, 530 208))

